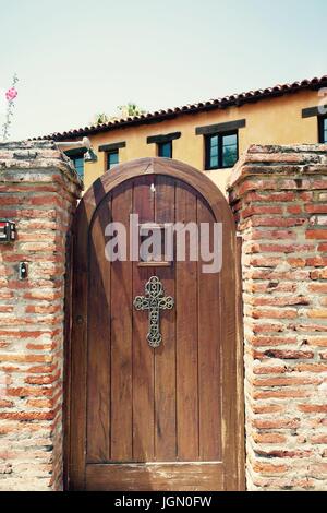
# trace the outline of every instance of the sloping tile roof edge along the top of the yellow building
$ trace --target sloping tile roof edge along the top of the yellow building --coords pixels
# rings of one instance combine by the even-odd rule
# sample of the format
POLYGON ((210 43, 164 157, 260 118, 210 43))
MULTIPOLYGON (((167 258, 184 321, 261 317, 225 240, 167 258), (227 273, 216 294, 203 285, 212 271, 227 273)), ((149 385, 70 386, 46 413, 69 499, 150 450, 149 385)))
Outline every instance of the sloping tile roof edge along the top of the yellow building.
POLYGON ((156 123, 168 119, 177 118, 182 115, 191 115, 204 112, 215 109, 226 109, 228 107, 241 106, 244 104, 255 103, 261 99, 272 98, 282 96, 284 94, 292 94, 303 90, 318 90, 327 87, 327 75, 320 79, 303 80, 301 82, 293 82, 291 84, 275 85, 265 90, 249 91, 247 93, 233 94, 222 98, 209 99, 207 102, 199 102, 197 104, 189 104, 182 107, 168 108, 165 110, 156 110, 140 116, 117 119, 104 124, 88 126, 66 132, 55 132, 49 135, 35 138, 36 140, 53 140, 66 141, 70 139, 93 135, 99 132, 109 132, 120 128, 135 127, 140 124, 156 123))

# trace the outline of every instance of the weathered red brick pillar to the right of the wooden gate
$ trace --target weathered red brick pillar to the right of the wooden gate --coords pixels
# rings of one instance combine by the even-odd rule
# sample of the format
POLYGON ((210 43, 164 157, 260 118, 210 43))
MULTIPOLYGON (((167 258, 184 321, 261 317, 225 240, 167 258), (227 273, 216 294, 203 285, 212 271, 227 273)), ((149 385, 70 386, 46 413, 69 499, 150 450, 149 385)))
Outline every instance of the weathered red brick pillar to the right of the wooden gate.
POLYGON ((252 146, 229 186, 243 239, 250 490, 327 489, 327 145, 252 146))

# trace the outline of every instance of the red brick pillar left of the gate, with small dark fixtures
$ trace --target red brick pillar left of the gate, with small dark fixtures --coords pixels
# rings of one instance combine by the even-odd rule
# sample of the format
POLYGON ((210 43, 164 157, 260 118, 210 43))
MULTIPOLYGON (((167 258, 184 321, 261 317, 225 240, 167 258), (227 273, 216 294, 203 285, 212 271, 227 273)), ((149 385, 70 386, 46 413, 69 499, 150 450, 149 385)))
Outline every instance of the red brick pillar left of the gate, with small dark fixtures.
POLYGON ((53 143, 0 144, 0 218, 17 228, 0 244, 0 490, 62 488, 65 247, 80 193, 53 143))

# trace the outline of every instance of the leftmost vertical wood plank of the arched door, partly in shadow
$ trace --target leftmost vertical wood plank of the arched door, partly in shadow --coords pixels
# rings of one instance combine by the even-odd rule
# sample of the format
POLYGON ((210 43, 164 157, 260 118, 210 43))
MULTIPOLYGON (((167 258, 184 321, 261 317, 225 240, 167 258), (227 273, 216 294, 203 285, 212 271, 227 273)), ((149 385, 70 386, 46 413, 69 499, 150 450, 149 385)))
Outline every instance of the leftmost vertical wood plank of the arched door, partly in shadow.
POLYGON ((105 201, 89 237, 87 462, 110 456, 110 263, 105 258, 105 229, 111 218, 105 201))

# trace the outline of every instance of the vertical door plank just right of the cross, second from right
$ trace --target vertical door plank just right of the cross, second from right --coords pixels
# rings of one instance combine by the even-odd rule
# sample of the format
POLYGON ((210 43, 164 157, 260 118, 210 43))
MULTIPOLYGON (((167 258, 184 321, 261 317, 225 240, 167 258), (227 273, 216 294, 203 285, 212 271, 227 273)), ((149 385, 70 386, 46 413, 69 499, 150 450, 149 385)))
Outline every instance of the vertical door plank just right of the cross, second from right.
MULTIPOLYGON (((196 223, 195 191, 177 182, 177 223, 196 223)), ((186 248, 190 249, 189 243, 186 248)), ((177 262, 178 458, 198 460, 197 262, 177 262)))

